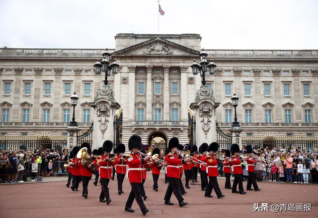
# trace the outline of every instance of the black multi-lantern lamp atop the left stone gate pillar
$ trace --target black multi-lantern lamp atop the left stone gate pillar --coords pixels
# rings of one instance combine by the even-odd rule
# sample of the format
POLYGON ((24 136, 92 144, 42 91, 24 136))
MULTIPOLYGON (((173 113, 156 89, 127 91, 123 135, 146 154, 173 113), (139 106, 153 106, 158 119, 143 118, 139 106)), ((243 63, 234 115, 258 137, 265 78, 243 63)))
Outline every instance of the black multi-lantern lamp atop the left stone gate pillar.
POLYGON ((111 54, 108 53, 108 50, 106 50, 103 56, 104 58, 102 59, 101 62, 99 62, 99 60, 97 59, 97 61, 94 64, 94 67, 95 67, 95 74, 100 74, 101 71, 105 72, 104 84, 106 86, 108 84, 107 76, 110 76, 110 71, 112 71, 113 74, 117 74, 119 65, 115 59, 113 63, 109 65, 109 59, 111 54))

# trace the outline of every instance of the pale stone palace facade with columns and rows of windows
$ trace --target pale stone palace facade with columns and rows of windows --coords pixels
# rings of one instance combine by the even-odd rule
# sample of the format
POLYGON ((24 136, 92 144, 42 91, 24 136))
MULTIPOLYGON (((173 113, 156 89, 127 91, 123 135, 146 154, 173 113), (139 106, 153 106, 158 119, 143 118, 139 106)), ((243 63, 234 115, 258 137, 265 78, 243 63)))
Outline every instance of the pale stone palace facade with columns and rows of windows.
MULTIPOLYGON (((120 67, 108 80, 123 110, 123 143, 133 133, 145 144, 172 136, 186 143, 189 106, 201 85, 190 67, 199 59, 200 35, 117 34, 115 41, 108 52, 120 67)), ((1 48, 0 134, 67 135, 74 92, 76 121, 87 128, 94 115, 89 103, 104 77, 93 64, 105 51, 1 48)), ((236 93, 243 136, 318 136, 317 50, 205 52, 217 65, 206 85, 220 103, 223 129, 233 122, 236 93)))

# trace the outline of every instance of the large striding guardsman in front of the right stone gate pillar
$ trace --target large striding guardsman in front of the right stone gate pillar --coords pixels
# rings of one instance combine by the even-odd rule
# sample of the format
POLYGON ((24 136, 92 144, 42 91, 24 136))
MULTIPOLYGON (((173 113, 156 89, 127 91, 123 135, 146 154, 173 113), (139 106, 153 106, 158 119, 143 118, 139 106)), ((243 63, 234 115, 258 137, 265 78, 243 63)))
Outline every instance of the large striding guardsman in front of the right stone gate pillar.
POLYGON ((205 191, 204 196, 211 198, 212 195, 212 188, 214 189, 215 193, 217 194, 218 198, 223 198, 225 195, 222 194, 221 189, 219 188, 217 176, 219 176, 218 171, 218 163, 220 163, 219 155, 215 156, 215 152, 218 152, 219 144, 216 142, 212 142, 209 145, 208 152, 209 156, 206 157, 207 163, 207 172, 209 176, 209 184, 207 190, 205 191))

